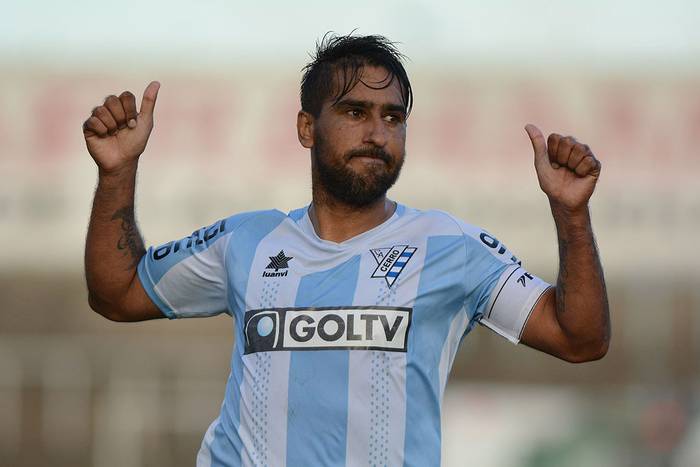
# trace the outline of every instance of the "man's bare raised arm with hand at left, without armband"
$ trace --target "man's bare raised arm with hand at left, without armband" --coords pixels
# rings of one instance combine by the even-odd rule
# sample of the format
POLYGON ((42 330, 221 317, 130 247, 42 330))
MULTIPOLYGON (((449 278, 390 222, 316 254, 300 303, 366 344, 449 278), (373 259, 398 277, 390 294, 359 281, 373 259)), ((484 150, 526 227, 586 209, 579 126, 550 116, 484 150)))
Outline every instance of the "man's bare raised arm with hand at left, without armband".
POLYGON ((85 278, 90 307, 114 321, 162 318, 137 278, 146 252, 134 217, 138 158, 153 129, 160 84, 143 94, 140 112, 134 95, 110 95, 83 123, 88 152, 99 178, 85 241, 85 278))

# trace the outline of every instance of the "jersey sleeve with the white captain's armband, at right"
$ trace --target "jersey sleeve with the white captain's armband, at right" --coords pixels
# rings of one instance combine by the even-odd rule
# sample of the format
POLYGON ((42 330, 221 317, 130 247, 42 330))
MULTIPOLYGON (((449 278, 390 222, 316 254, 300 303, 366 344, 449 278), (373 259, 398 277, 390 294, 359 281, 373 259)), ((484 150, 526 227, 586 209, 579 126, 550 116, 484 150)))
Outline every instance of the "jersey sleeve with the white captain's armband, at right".
POLYGON ((535 305, 550 284, 530 274, 488 232, 465 229, 466 297, 472 320, 517 344, 535 305))

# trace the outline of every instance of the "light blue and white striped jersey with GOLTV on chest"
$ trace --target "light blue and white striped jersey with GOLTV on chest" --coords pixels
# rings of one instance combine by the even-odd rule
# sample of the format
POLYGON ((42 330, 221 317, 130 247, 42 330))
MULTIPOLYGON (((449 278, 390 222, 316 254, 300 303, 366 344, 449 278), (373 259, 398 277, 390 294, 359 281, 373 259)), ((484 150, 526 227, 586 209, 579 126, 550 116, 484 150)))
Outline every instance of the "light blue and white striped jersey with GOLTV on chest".
POLYGON ((517 343, 548 284, 493 236, 398 205, 342 243, 308 208, 243 213, 151 247, 141 282, 169 318, 235 318, 209 466, 438 466, 443 391, 481 323, 517 343))

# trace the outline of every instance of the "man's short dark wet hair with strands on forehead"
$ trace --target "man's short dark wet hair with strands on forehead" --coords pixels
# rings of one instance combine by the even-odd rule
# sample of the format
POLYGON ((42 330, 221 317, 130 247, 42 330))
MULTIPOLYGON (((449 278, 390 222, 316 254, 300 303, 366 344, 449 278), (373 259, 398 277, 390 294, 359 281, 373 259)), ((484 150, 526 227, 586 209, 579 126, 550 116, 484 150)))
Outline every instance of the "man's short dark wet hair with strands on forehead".
POLYGON ((384 36, 353 36, 352 32, 347 36, 337 36, 328 32, 316 42, 316 53, 302 69, 301 109, 318 117, 323 102, 329 98, 334 99, 334 104, 340 101, 358 83, 362 68, 370 65, 383 67, 389 72, 386 84, 377 89, 387 88, 394 79, 399 80, 408 116, 413 107, 413 91, 402 64, 404 58, 394 42, 384 36))

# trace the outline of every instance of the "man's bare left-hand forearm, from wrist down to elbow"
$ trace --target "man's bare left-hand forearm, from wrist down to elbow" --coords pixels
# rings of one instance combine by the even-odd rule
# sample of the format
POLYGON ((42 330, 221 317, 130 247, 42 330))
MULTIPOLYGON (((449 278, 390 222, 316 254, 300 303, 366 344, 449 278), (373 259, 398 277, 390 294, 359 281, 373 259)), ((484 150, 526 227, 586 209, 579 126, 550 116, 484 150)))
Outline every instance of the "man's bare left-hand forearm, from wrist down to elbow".
POLYGON ((85 277, 93 308, 117 304, 145 253, 134 217, 135 184, 136 164, 117 173, 100 173, 85 242, 85 277))

